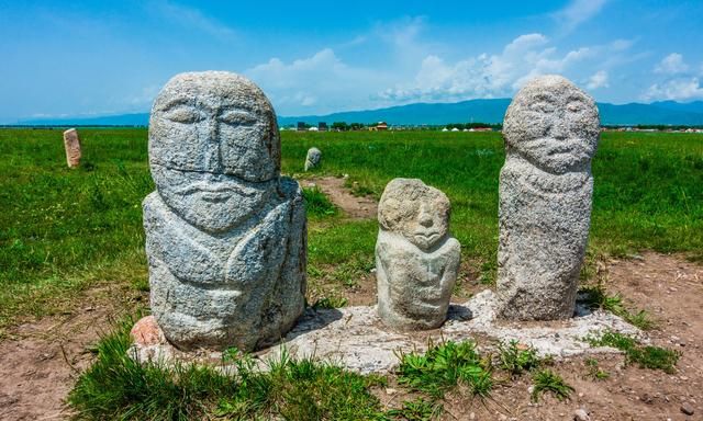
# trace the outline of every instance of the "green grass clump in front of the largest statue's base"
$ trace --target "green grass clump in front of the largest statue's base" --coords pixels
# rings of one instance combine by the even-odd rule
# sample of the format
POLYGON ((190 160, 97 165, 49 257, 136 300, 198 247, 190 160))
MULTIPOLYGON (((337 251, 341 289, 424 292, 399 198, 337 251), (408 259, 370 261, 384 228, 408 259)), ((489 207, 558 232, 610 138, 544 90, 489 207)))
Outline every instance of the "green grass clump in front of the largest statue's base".
POLYGON ((167 368, 127 356, 131 319, 102 338, 98 359, 68 396, 77 420, 387 420, 370 388, 378 376, 361 376, 312 360, 283 354, 268 371, 255 368, 236 350, 227 362, 236 374, 212 367, 167 368))

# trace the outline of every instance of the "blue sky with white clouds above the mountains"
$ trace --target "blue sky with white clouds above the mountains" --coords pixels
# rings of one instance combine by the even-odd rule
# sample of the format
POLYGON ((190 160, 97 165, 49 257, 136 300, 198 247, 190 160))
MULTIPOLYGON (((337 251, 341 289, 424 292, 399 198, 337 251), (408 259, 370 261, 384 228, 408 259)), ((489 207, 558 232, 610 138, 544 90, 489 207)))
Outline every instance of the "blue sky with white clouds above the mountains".
POLYGON ((599 101, 703 99, 703 1, 5 1, 0 123, 147 112, 230 70, 279 115, 506 98, 561 73, 599 101))

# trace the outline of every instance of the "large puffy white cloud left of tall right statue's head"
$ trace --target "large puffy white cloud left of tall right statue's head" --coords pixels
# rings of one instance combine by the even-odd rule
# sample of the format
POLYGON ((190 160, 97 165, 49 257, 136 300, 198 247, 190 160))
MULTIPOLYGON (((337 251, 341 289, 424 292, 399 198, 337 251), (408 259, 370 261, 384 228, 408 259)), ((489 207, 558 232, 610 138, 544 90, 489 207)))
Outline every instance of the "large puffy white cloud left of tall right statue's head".
MULTIPOLYGON (((448 64, 437 55, 428 55, 412 82, 386 89, 379 96, 393 102, 507 96, 536 76, 565 73, 574 68, 585 71, 581 69, 582 64, 592 62, 614 50, 614 46, 594 46, 559 55, 545 35, 525 34, 496 55, 481 54, 455 64, 448 64)), ((607 73, 603 71, 594 77, 600 86, 606 86, 607 73)))

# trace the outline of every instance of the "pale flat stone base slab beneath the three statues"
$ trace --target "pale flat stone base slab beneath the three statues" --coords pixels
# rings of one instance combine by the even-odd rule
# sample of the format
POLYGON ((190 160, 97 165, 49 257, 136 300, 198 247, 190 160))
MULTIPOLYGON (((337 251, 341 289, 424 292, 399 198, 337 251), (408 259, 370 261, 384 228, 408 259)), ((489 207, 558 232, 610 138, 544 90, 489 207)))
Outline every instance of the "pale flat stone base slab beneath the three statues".
MULTIPOLYGON (((439 329, 400 332, 386 327, 375 307, 309 308, 281 344, 257 352, 255 361, 266 369, 268 361, 279 361, 281 353, 286 352, 293 359, 314 357, 369 374, 392 372, 399 364, 401 352, 424 352, 429 341, 478 340, 483 351, 493 351, 496 341, 515 340, 535 348, 540 356, 556 357, 620 352, 612 348, 591 348, 584 340, 605 331, 635 335, 647 342, 641 331, 611 312, 591 312, 588 306, 577 309, 577 317, 572 319, 543 322, 540 326, 500 321, 495 315, 495 295, 484 291, 465 304, 451 305, 447 320, 439 329)), ((135 343, 130 355, 141 361, 196 362, 211 364, 224 372, 234 369, 223 365, 219 352, 201 350, 185 353, 175 349, 166 342, 158 327, 148 320, 143 327, 135 327, 132 334, 135 343)))

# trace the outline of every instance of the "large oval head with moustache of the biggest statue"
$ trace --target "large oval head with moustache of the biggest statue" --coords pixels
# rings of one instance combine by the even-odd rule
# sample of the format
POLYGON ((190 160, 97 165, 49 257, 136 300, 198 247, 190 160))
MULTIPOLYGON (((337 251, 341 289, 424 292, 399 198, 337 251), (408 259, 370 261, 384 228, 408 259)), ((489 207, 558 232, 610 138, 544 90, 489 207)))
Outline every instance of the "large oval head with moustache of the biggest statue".
POLYGON ((274 194, 280 172, 274 109, 238 75, 178 75, 152 109, 149 164, 176 214, 207 231, 232 229, 274 194))

